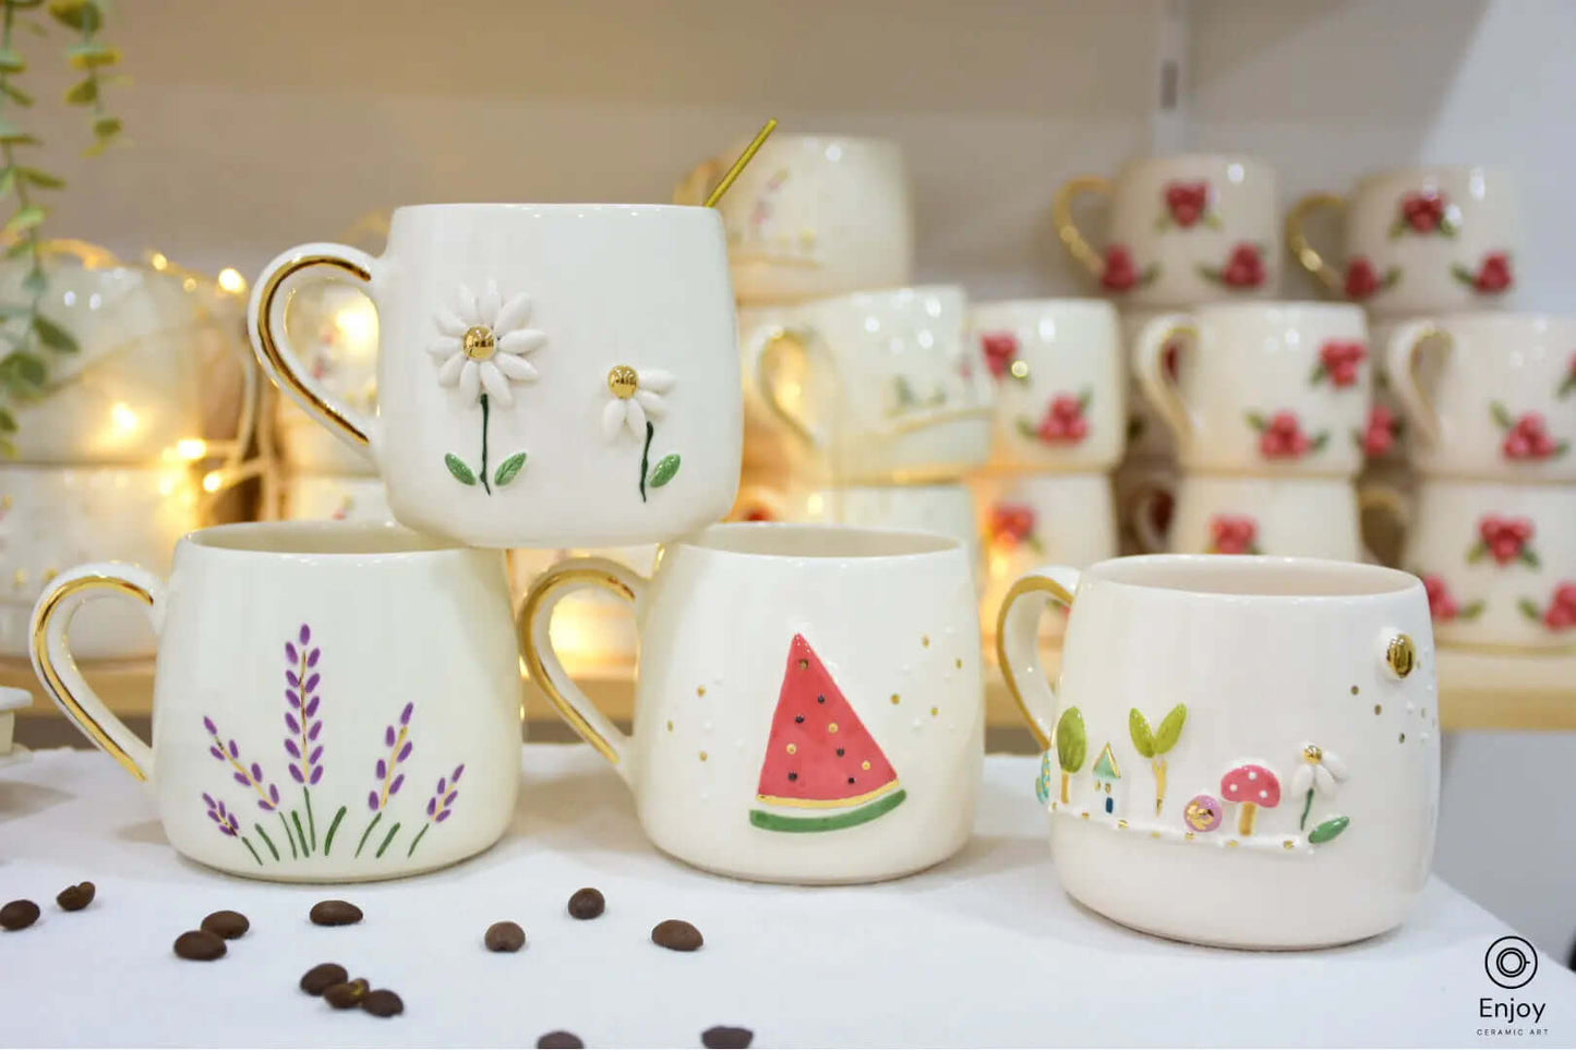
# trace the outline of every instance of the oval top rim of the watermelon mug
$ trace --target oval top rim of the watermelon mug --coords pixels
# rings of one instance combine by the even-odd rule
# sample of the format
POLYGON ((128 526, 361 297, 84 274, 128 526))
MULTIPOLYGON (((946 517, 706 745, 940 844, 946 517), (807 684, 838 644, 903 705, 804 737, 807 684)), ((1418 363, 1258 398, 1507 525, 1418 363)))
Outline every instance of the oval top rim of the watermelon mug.
MULTIPOLYGON (((682 536, 663 549, 682 547, 714 558, 742 558, 749 561, 908 561, 936 555, 963 553, 963 541, 941 533, 906 528, 865 528, 859 525, 834 525, 824 522, 719 522, 689 536, 682 536), (763 549, 750 550, 752 541, 763 541, 763 549), (728 542, 731 541, 731 544, 728 542), (793 550, 791 544, 807 544, 812 549, 793 550), (815 550, 831 544, 846 542, 843 549, 815 550), (862 550, 860 544, 872 547, 862 550), (764 547, 779 547, 777 550, 764 547)), ((659 555, 660 564, 660 555, 659 555)))

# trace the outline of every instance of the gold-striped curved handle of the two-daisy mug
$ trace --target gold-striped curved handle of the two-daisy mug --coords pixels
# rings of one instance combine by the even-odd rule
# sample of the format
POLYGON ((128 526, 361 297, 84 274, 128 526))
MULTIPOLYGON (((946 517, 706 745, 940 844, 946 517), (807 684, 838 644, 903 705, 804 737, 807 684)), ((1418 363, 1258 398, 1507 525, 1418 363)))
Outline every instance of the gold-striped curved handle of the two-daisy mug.
POLYGON ((257 361, 274 385, 301 405, 307 415, 328 427, 329 434, 358 451, 377 456, 377 421, 356 411, 301 367, 301 359, 285 334, 285 307, 290 303, 293 277, 303 271, 318 271, 314 279, 326 281, 331 271, 350 276, 370 295, 367 285, 377 270, 372 255, 348 244, 299 244, 276 257, 263 268, 252 289, 246 311, 246 328, 252 336, 257 361))

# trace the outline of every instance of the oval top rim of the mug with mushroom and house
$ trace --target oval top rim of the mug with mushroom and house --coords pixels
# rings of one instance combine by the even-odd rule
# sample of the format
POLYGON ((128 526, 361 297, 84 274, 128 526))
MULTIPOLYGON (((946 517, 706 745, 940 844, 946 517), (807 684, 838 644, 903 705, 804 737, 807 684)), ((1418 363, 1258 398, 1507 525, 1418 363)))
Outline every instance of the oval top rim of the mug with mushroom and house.
POLYGON ((1171 593, 1184 594, 1191 601, 1209 602, 1349 602, 1354 599, 1395 598, 1401 594, 1422 594, 1423 582, 1411 572, 1390 569, 1381 564, 1363 561, 1336 561, 1333 558, 1294 558, 1283 555, 1195 555, 1195 553, 1154 553, 1130 555, 1122 558, 1106 558, 1083 571, 1083 580, 1098 582, 1108 586, 1119 586, 1132 591, 1150 594, 1171 593), (1143 579, 1149 572, 1174 572, 1180 579, 1174 582, 1143 579), (1132 579, 1133 575, 1139 579, 1132 579), (1286 579, 1303 577, 1347 580, 1344 588, 1277 588, 1269 590, 1261 585, 1253 590, 1226 590, 1210 586, 1210 579, 1236 579, 1251 582, 1254 577, 1286 579), (1124 579, 1127 577, 1127 579, 1124 579), (1198 585, 1204 582, 1202 585, 1198 585))

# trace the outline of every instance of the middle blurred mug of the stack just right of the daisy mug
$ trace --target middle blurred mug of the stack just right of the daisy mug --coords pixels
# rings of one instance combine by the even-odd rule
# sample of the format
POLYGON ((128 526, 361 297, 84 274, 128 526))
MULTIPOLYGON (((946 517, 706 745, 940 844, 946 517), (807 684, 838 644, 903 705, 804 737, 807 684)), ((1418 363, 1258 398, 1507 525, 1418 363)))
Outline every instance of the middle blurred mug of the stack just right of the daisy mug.
POLYGON ((994 391, 957 285, 741 311, 752 397, 837 484, 953 481, 990 459, 994 391), (780 361, 805 355, 785 377, 780 361))

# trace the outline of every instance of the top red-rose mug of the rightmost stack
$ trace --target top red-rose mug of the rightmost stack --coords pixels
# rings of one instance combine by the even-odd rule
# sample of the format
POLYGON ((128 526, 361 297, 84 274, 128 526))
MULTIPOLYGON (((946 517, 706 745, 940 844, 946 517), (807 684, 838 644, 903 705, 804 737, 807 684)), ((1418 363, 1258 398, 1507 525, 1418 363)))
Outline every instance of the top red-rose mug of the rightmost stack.
POLYGON ((1522 240, 1505 172, 1409 167, 1370 175, 1349 197, 1303 197, 1286 216, 1286 244, 1335 295, 1395 315, 1507 306, 1522 240), (1322 210, 1344 213, 1343 263, 1329 262, 1303 229, 1322 210))

